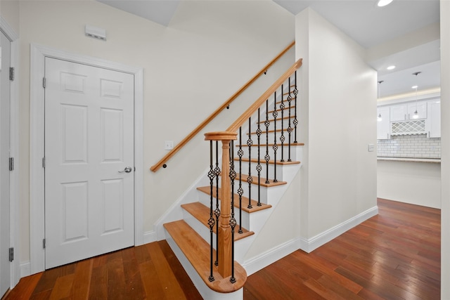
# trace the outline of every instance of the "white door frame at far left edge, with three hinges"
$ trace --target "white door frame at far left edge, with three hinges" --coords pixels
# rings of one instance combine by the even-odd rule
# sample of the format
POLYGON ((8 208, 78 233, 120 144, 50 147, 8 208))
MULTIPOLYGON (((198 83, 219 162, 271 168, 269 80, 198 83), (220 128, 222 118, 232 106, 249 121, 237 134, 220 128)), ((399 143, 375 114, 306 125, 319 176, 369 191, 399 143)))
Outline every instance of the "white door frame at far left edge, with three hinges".
POLYGON ((14 157, 14 171, 10 177, 10 247, 14 248, 14 260, 10 269, 10 288, 20 280, 20 221, 19 221, 19 99, 18 99, 18 34, 0 15, 0 30, 11 41, 11 67, 15 70, 15 79, 10 86, 10 129, 11 157, 14 157))

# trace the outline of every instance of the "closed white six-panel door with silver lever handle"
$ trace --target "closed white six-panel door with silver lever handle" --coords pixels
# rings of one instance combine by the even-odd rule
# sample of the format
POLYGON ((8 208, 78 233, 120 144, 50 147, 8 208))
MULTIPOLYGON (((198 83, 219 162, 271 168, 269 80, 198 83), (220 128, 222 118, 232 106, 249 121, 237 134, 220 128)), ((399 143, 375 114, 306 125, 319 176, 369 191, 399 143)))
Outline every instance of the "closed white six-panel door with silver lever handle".
POLYGON ((45 58, 46 268, 134 244, 134 75, 45 58))

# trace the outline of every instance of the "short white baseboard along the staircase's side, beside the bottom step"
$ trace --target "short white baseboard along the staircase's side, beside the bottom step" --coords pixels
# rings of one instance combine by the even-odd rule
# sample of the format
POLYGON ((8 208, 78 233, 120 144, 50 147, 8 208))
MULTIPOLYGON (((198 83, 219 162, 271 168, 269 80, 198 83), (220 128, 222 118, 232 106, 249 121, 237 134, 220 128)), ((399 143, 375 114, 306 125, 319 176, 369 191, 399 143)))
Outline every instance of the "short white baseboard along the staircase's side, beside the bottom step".
POLYGON ((243 267, 247 271, 247 275, 250 276, 262 268, 266 268, 266 266, 269 266, 271 263, 278 261, 278 259, 282 259, 284 256, 288 256, 289 254, 297 251, 299 248, 300 239, 296 238, 294 240, 290 240, 279 245, 278 247, 272 248, 263 254, 245 261, 243 263, 243 267))

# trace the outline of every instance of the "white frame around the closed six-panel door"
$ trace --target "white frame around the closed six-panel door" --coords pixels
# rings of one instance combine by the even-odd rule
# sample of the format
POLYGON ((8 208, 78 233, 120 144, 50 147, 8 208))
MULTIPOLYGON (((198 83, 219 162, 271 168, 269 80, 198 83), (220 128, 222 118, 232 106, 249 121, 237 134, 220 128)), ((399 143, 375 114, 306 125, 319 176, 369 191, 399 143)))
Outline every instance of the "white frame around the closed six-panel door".
POLYGON ((30 274, 45 270, 44 58, 134 74, 134 244, 143 244, 143 69, 31 44, 30 49, 30 274))

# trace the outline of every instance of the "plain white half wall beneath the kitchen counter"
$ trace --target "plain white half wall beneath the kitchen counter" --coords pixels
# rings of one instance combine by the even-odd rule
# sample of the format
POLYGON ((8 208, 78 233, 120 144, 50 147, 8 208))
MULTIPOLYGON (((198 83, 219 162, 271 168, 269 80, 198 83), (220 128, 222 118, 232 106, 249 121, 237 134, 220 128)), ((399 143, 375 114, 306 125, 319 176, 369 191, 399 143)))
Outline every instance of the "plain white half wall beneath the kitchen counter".
POLYGON ((441 164, 378 160, 377 196, 441 208, 441 164))

